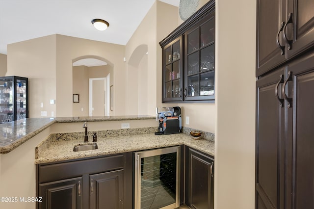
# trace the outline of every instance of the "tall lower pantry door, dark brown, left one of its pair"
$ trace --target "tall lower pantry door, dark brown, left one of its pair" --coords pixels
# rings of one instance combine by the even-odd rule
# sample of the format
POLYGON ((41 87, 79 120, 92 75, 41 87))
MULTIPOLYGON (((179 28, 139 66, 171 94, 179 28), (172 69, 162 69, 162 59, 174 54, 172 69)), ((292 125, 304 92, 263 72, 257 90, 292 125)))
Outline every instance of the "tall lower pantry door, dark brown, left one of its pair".
POLYGON ((284 79, 285 69, 280 69, 257 81, 257 142, 256 142, 256 192, 267 208, 280 209, 280 190, 284 183, 284 106, 278 95, 284 79), (278 84, 279 81, 282 83, 278 84), (278 84, 278 85, 277 85, 278 84))

